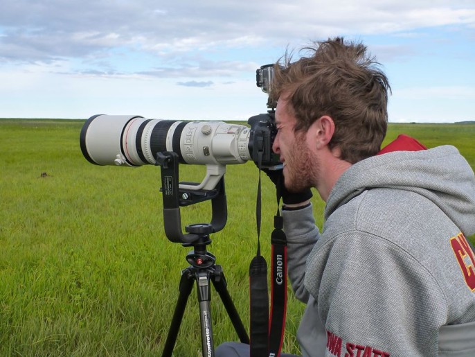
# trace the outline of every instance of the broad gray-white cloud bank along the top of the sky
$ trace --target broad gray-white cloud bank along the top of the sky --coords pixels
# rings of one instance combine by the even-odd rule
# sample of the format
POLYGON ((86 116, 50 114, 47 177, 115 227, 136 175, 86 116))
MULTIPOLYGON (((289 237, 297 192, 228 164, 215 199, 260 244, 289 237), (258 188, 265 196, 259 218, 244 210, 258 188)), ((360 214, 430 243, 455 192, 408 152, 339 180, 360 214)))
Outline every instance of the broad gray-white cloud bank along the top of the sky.
POLYGON ((8 60, 46 61, 86 56, 114 46, 154 53, 213 47, 285 46, 296 39, 339 33, 410 32, 413 28, 473 26, 466 1, 152 1, 11 0, 2 6, 3 50, 8 60), (28 11, 25 11, 28 9, 28 11))

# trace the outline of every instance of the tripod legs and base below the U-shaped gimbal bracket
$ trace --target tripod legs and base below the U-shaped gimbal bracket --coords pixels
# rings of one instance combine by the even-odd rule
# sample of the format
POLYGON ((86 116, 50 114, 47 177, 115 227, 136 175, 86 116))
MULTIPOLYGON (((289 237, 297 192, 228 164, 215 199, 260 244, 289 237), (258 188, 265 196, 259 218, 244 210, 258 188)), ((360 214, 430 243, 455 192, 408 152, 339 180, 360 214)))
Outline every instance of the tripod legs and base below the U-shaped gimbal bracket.
POLYGON ((186 303, 193 288, 193 282, 196 281, 199 302, 199 318, 201 321, 201 345, 203 356, 214 356, 213 326, 211 322, 211 291, 210 281, 215 286, 215 290, 221 297, 226 312, 231 318, 234 329, 238 333, 241 342, 249 344, 249 337, 244 329, 244 325, 239 317, 231 296, 226 288, 226 279, 221 265, 215 265, 215 256, 206 250, 206 245, 210 244, 210 225, 192 225, 188 226, 187 232, 195 232, 200 235, 196 243, 192 243, 194 250, 186 256, 186 260, 191 265, 181 272, 179 284, 179 297, 175 307, 172 324, 168 331, 168 337, 165 342, 162 356, 172 356, 172 351, 177 340, 177 334, 180 329, 183 313, 186 303))

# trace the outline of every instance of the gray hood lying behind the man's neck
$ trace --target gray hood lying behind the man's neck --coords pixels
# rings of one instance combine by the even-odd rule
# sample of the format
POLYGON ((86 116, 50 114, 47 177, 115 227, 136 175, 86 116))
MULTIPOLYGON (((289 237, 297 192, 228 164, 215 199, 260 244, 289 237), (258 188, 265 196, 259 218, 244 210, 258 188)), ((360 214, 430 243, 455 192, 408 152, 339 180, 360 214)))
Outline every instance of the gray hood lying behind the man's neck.
POLYGON ((475 233, 475 177, 454 146, 395 151, 352 165, 333 187, 325 220, 342 204, 368 189, 392 188, 423 195, 466 235, 475 233))

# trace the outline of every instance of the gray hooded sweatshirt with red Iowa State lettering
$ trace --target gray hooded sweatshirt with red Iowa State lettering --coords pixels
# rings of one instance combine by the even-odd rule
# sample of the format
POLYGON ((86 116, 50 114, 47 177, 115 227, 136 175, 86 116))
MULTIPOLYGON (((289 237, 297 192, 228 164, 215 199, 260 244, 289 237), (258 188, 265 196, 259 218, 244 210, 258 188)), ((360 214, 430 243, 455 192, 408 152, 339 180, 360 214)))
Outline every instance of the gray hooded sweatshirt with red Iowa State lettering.
POLYGON ((475 178, 453 146, 352 165, 321 235, 283 211, 304 356, 475 356, 475 178))

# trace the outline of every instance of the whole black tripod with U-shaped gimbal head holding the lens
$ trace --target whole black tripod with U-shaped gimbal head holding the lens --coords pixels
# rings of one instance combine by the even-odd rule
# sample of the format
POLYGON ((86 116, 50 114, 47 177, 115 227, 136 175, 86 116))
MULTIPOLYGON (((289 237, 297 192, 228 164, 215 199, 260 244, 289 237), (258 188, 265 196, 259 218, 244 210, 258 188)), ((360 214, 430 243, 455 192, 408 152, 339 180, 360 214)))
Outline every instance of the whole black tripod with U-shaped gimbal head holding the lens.
POLYGON ((165 234, 172 242, 181 243, 185 247, 193 247, 193 250, 186 256, 190 266, 181 272, 177 306, 174 310, 162 356, 172 356, 188 297, 193 288, 193 282, 196 281, 201 321, 202 354, 204 357, 214 357, 210 282, 213 283, 215 290, 221 297, 240 341, 249 344, 249 336, 226 288, 227 284, 222 267, 221 265, 215 265, 215 256, 206 250, 206 246, 211 243, 210 234, 219 232, 226 225, 227 205, 224 193, 224 177, 222 175, 219 177, 214 189, 193 189, 194 184, 190 184, 190 182, 180 186, 178 182, 178 161, 178 155, 173 152, 157 153, 156 155, 156 164, 161 166, 165 234), (179 207, 205 200, 211 200, 213 211, 211 222, 209 224, 187 225, 185 228, 187 234, 183 234, 181 232, 179 207))

